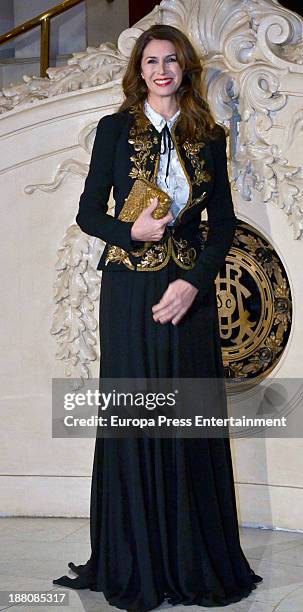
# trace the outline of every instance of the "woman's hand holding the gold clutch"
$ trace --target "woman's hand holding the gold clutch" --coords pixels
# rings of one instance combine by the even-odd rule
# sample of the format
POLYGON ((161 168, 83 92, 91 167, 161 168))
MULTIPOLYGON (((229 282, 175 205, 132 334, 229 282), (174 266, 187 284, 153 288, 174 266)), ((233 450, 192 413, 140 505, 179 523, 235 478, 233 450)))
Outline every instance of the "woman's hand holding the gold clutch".
POLYGON ((132 240, 155 241, 161 240, 166 224, 172 221, 173 214, 169 210, 162 219, 154 219, 152 213, 157 208, 159 198, 153 198, 150 205, 142 210, 131 228, 132 240))

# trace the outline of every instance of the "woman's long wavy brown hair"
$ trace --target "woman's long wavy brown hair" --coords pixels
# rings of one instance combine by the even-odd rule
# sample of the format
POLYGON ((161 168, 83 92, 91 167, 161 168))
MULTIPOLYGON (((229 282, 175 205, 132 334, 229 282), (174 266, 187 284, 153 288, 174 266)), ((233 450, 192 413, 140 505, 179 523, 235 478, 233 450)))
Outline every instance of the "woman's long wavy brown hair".
POLYGON ((184 142, 185 139, 194 141, 214 136, 216 123, 202 96, 203 68, 199 57, 187 36, 170 25, 153 25, 136 40, 122 80, 125 100, 118 112, 130 109, 144 124, 146 118, 143 105, 148 90, 141 77, 141 60, 146 45, 153 39, 169 40, 174 44, 177 60, 183 71, 182 83, 176 92, 181 110, 178 121, 180 142, 184 142))

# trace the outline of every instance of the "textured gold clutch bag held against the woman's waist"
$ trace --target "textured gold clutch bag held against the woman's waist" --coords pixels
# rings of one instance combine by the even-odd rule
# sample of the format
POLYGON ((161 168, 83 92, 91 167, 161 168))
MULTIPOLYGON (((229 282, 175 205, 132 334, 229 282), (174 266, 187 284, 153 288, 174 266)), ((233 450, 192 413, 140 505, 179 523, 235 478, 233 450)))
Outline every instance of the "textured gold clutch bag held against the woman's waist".
POLYGON ((159 202, 152 216, 154 219, 162 219, 170 209, 172 203, 170 196, 147 179, 136 179, 119 213, 118 219, 121 221, 136 221, 142 210, 147 208, 151 200, 156 197, 159 198, 159 202))

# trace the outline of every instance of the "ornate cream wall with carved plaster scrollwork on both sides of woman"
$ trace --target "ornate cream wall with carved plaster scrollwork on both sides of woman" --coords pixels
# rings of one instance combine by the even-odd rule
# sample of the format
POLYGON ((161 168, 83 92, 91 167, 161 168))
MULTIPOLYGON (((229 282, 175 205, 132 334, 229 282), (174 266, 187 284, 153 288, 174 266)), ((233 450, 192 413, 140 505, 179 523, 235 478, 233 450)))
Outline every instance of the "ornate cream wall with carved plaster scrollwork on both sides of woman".
MULTIPOLYGON (((301 375, 302 20, 273 0, 163 0, 121 33, 117 47, 74 54, 66 67, 50 69, 49 79, 27 80, 0 96, 6 262, 0 447, 7 513, 88 513, 93 441, 51 439, 51 378, 64 376, 55 337, 58 356, 70 350, 67 371, 97 376, 94 320, 86 320, 80 342, 68 336, 69 317, 62 321, 68 312, 79 315, 83 292, 97 320, 98 275, 89 276, 95 293, 87 295, 80 281, 92 274, 102 244, 72 224, 91 130, 122 99, 134 38, 155 22, 180 27, 205 63, 205 95, 217 120, 231 129, 237 216, 270 240, 291 283, 292 333, 272 376, 301 375), (68 281, 63 304, 62 269, 68 281), (89 331, 95 344, 88 353, 89 331)), ((232 447, 241 523, 303 529, 302 441, 241 439, 232 447)))

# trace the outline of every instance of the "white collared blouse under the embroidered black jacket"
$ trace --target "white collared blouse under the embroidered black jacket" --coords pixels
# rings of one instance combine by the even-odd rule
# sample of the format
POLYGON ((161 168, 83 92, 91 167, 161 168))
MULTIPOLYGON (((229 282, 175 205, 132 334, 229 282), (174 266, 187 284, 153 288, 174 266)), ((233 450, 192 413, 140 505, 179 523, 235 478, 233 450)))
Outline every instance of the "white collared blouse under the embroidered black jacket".
MULTIPOLYGON (((148 119, 152 122, 156 130, 158 130, 158 132, 161 132, 163 130, 165 123, 167 123, 169 131, 171 131, 173 124, 175 123, 178 115, 180 114, 180 110, 178 110, 173 117, 166 120, 164 117, 162 117, 162 115, 160 115, 160 113, 158 113, 151 107, 147 100, 145 100, 144 103, 144 112, 148 119)), ((174 218, 169 223, 167 223, 167 225, 174 225, 176 216, 179 214, 182 208, 184 208, 188 200, 189 185, 184 170, 179 161, 175 147, 171 149, 169 173, 166 179, 166 183, 165 174, 168 160, 168 150, 166 150, 165 153, 162 153, 162 147, 163 145, 161 146, 161 155, 157 174, 157 185, 160 187, 160 189, 168 193, 168 195, 172 198, 172 205, 170 210, 174 218)))

